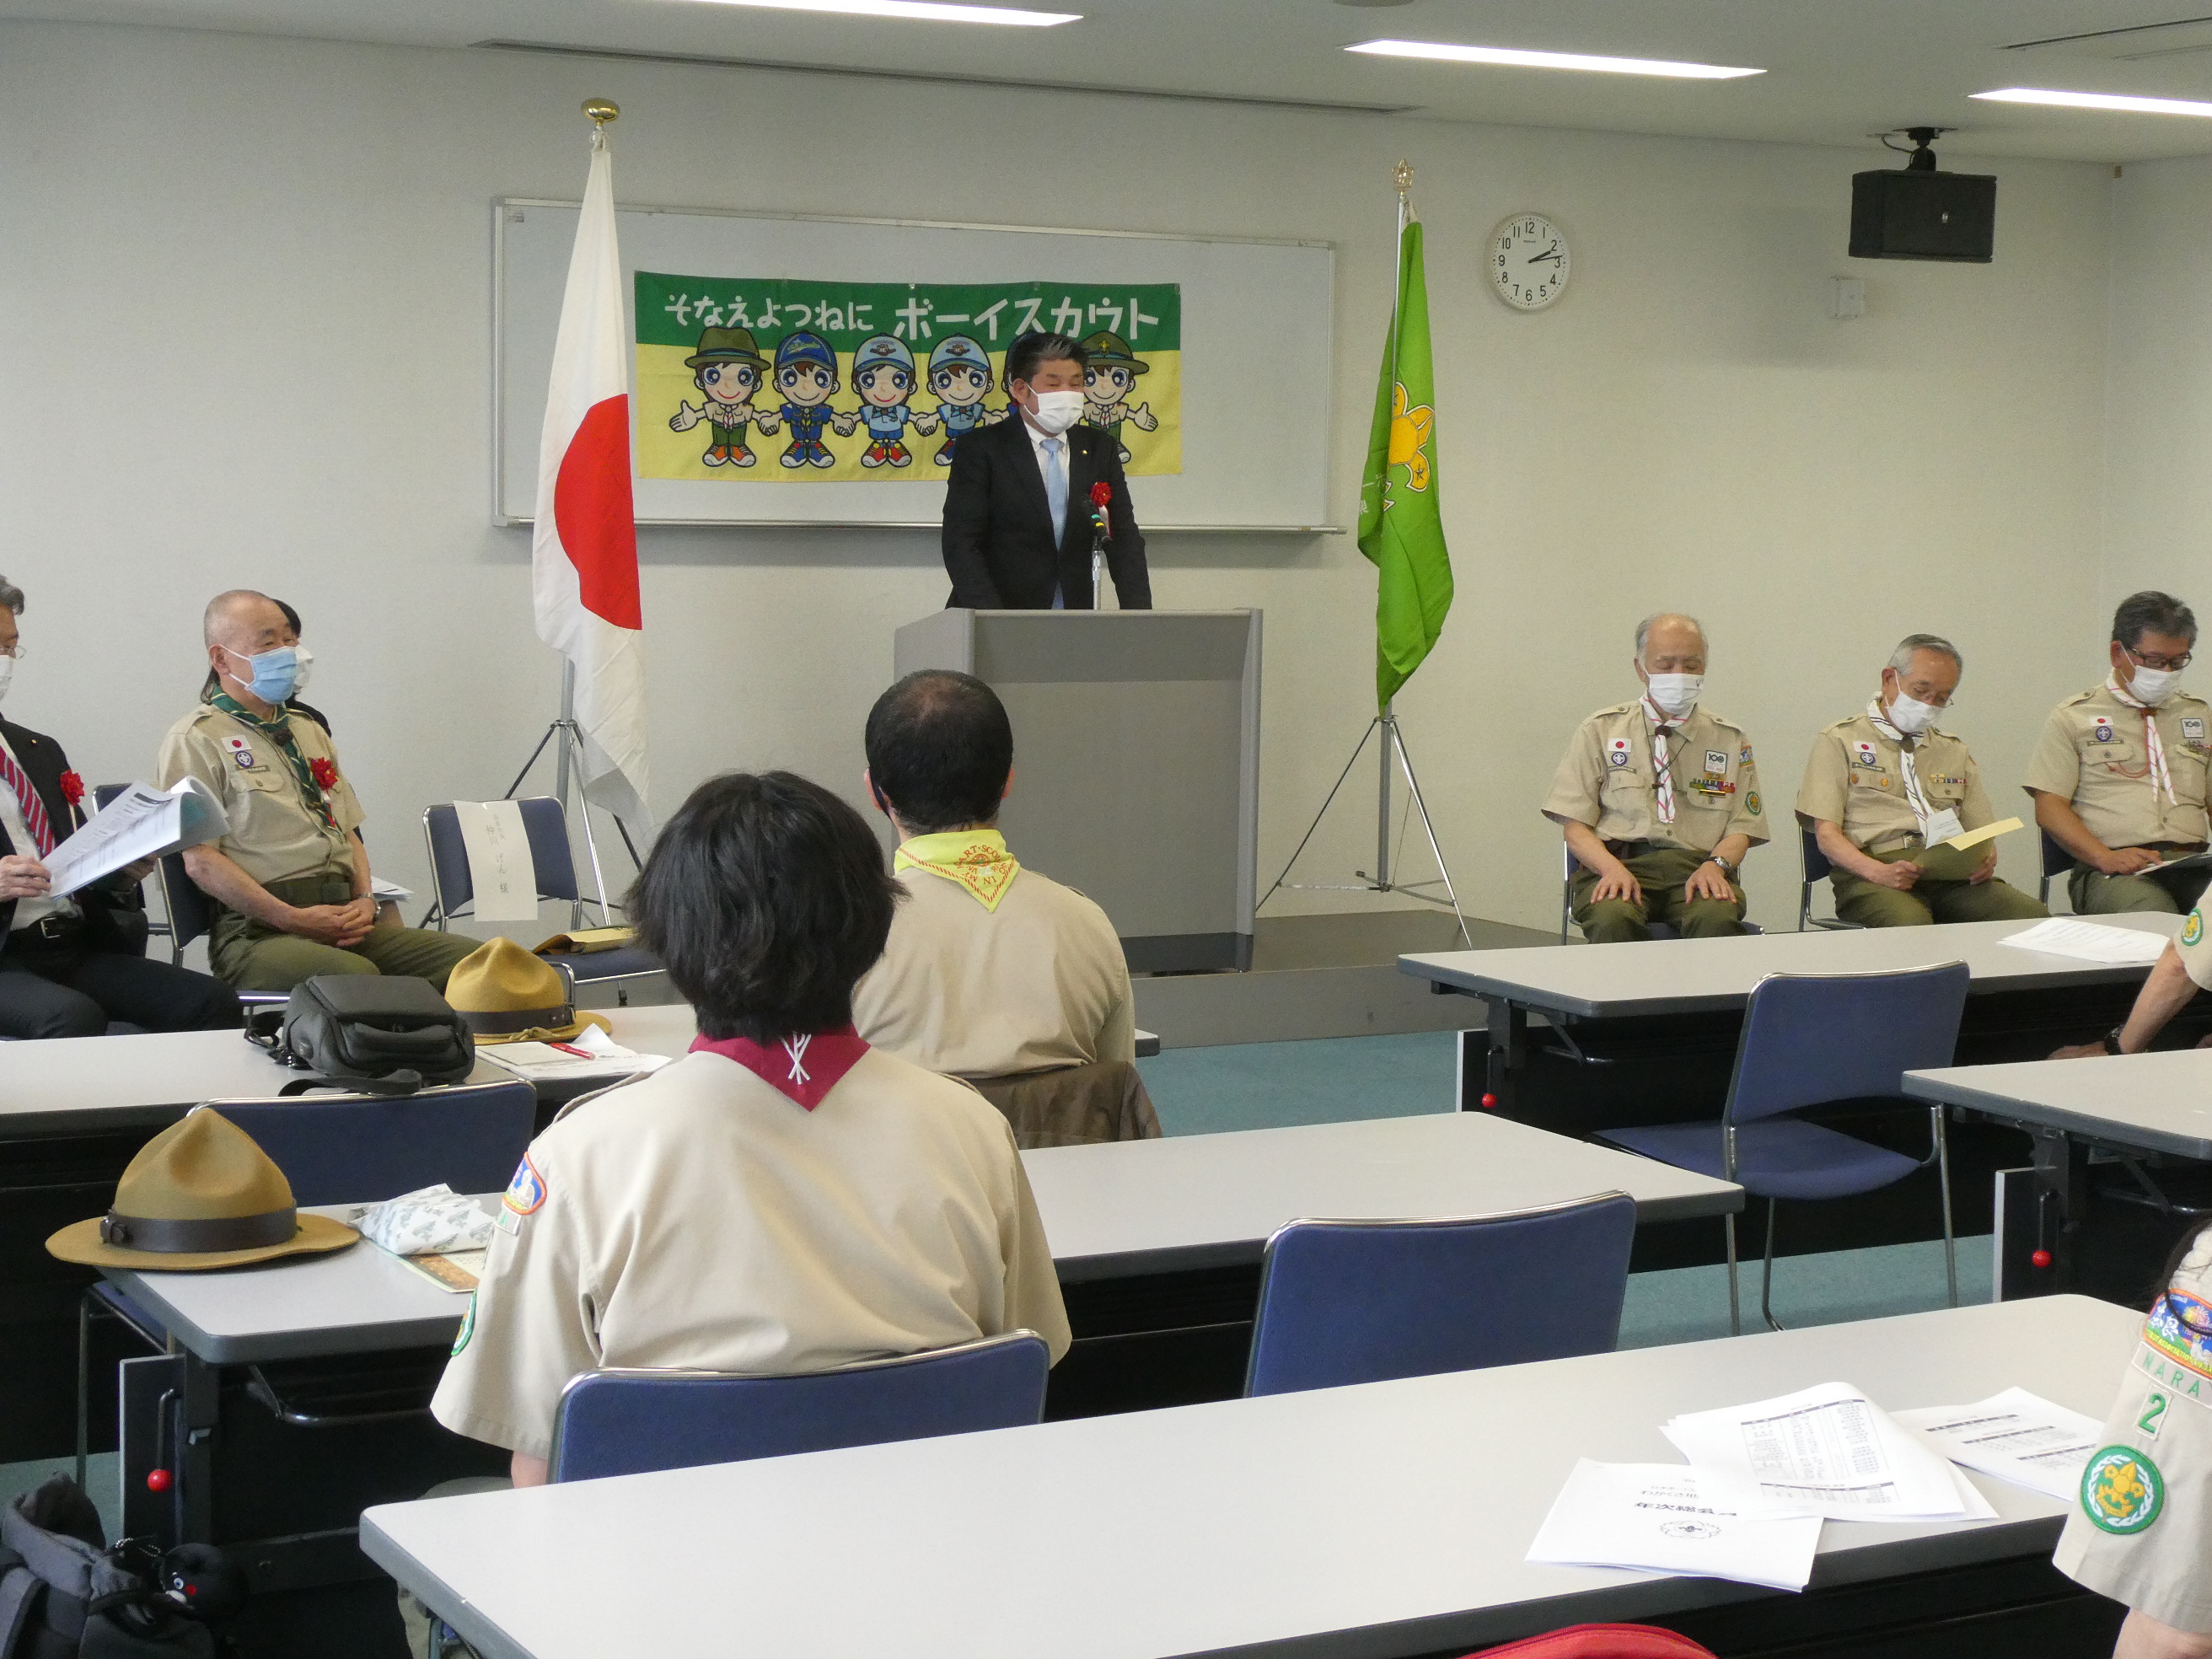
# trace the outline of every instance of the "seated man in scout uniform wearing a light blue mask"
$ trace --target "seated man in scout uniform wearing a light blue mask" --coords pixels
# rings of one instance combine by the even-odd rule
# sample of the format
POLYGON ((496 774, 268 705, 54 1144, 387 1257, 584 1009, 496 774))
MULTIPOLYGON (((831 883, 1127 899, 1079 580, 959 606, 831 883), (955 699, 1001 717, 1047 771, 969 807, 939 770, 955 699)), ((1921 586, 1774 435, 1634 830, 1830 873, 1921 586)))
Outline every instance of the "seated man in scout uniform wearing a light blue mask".
POLYGON ((208 967, 243 991, 290 991, 316 973, 411 973, 440 991, 480 940, 378 920, 361 803, 330 732, 288 708, 299 635, 265 593, 208 602, 215 690, 168 728, 155 783, 195 776, 230 834, 188 847, 184 867, 215 900, 208 967))

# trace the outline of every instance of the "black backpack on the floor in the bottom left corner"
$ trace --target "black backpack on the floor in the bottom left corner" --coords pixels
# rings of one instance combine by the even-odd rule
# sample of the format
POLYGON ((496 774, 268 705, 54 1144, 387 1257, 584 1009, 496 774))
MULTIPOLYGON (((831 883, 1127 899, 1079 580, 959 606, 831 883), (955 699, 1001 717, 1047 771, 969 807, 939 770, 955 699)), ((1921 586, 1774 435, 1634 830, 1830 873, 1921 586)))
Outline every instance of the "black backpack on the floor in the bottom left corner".
POLYGON ((0 1659, 219 1659, 234 1648, 217 1626, 243 1606, 219 1548, 106 1548, 69 1475, 0 1509, 0 1659))

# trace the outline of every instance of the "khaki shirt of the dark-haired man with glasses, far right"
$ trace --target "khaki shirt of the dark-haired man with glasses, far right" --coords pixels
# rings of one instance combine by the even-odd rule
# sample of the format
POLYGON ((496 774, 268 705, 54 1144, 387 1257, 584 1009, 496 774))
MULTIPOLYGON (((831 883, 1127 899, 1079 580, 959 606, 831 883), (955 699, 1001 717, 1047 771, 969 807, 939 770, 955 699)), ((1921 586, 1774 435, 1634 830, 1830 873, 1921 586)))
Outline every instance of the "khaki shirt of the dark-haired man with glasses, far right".
POLYGON ((2177 692, 2148 712, 2159 721, 2172 801, 2150 787, 2146 710, 2128 708, 2106 686, 2051 710, 2022 787, 2070 801, 2081 825, 2106 847, 2197 845, 2205 838, 2205 765, 2212 763, 2205 719, 2212 708, 2177 692))

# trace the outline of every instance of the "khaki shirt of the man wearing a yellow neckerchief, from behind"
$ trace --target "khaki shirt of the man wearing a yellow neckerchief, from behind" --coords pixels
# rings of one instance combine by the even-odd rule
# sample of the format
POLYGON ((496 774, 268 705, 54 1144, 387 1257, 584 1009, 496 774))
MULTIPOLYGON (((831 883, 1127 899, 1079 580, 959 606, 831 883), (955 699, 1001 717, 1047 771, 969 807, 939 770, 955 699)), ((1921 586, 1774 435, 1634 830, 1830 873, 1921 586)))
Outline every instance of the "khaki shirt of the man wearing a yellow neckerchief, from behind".
POLYGON ((998 909, 927 869, 898 883, 883 960, 852 993, 872 1044, 953 1077, 1137 1057, 1121 940, 1088 898, 1035 869, 998 909))

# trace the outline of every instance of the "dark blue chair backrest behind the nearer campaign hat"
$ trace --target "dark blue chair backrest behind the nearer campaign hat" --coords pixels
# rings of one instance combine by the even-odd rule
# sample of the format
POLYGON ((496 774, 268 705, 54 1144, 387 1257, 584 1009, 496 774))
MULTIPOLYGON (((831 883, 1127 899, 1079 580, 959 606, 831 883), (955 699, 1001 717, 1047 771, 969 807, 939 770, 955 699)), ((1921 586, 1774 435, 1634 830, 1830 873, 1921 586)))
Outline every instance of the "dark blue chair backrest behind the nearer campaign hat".
POLYGON ((274 1159, 294 1203, 380 1203, 438 1181, 500 1192, 538 1121, 524 1082, 208 1104, 274 1159))

